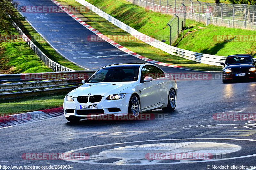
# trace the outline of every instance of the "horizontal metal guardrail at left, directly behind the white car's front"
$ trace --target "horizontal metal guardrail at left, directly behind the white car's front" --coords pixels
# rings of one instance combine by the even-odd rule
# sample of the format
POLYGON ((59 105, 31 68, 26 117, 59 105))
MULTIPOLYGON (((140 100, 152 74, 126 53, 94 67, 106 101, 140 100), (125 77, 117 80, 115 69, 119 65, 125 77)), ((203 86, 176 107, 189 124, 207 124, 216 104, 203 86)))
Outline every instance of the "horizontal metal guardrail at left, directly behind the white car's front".
POLYGON ((0 99, 69 92, 95 71, 59 71, 45 73, 0 74, 0 99))

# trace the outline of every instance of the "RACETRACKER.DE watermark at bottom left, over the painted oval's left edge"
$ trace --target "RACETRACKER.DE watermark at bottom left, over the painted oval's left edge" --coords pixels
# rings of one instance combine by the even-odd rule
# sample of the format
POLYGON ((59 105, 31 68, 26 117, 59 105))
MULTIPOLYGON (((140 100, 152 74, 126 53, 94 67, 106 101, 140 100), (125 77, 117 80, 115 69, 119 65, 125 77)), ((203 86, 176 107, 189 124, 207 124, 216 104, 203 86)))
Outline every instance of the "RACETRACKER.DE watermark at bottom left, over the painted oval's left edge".
POLYGON ((87 159, 103 159, 107 157, 105 154, 89 154, 89 153, 23 153, 22 159, 25 160, 87 160, 87 159))

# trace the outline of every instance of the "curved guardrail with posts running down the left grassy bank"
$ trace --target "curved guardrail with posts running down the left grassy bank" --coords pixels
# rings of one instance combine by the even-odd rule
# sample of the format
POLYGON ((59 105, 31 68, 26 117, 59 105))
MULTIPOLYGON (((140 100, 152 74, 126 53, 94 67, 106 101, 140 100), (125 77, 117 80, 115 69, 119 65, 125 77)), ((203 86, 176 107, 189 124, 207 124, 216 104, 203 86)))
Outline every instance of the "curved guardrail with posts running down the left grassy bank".
POLYGON ((29 47, 36 53, 36 55, 44 62, 44 64, 51 68, 52 71, 74 71, 73 69, 70 69, 68 67, 65 67, 63 65, 60 65, 54 61, 52 61, 49 57, 47 57, 29 38, 28 36, 23 33, 23 31, 20 29, 19 26, 17 26, 16 23, 12 23, 12 25, 15 27, 15 29, 20 33, 22 39, 26 41, 26 43, 29 45, 29 47))

